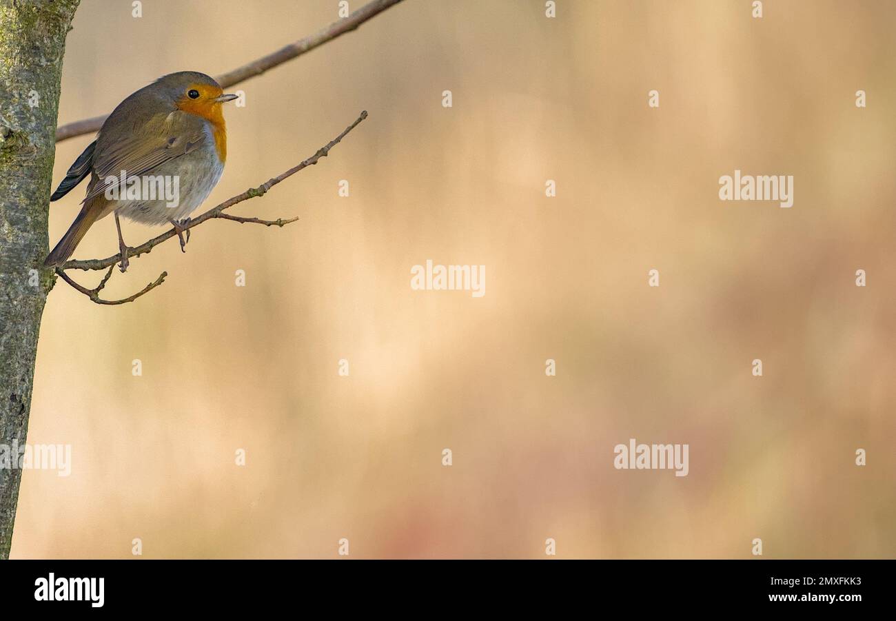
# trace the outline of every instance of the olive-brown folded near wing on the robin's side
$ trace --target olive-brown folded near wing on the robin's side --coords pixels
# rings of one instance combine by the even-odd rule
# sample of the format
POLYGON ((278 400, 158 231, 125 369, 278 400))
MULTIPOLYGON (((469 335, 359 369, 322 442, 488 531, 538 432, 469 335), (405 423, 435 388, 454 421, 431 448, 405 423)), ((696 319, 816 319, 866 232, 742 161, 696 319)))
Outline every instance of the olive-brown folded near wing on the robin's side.
POLYGON ((94 177, 82 203, 120 185, 122 170, 126 177, 140 177, 169 160, 199 149, 208 140, 204 124, 201 117, 177 110, 152 117, 139 132, 114 142, 104 140, 100 130, 93 156, 94 177), (109 183, 105 181, 107 178, 109 183))

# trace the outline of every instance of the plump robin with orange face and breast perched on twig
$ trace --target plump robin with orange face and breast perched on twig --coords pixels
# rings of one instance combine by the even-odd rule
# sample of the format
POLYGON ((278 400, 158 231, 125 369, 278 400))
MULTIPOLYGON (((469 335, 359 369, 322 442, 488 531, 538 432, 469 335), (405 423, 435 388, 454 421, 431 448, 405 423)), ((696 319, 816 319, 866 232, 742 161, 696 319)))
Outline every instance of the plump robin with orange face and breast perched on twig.
POLYGON ((119 216, 149 225, 171 223, 185 252, 189 215, 224 171, 227 129, 221 104, 232 99, 237 95, 224 94, 205 73, 182 71, 162 76, 118 104, 50 196, 50 201, 62 198, 90 175, 81 212, 44 265, 65 263, 87 229, 110 213, 115 214, 122 272, 128 246, 119 216))

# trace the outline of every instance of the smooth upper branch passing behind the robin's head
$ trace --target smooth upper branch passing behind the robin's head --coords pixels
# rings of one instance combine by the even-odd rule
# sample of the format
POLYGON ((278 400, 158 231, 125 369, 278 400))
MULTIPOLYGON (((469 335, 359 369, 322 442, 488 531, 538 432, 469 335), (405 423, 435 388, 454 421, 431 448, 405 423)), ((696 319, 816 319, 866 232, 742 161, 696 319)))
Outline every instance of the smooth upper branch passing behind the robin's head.
MULTIPOLYGON (((228 86, 233 86, 234 84, 244 82, 249 78, 254 78, 256 75, 261 75, 277 65, 282 65, 293 58, 302 56, 313 50, 315 47, 320 47, 324 43, 332 41, 332 39, 336 39, 346 32, 358 29, 358 26, 362 23, 375 17, 379 13, 383 13, 383 11, 393 4, 398 4, 400 2, 401 0, 374 0, 373 2, 369 2, 359 8, 358 11, 351 13, 348 17, 344 17, 338 22, 332 22, 332 24, 322 30, 318 30, 313 35, 308 35, 304 39, 298 39, 296 42, 290 43, 286 47, 281 47, 272 54, 262 56, 247 65, 237 67, 233 71, 221 73, 216 80, 221 85, 221 88, 226 89, 228 86)), ((108 115, 93 116, 92 118, 85 118, 81 121, 60 125, 56 128, 56 142, 62 142, 75 136, 90 134, 91 132, 98 132, 99 128, 103 125, 103 121, 105 121, 107 117, 108 115)))

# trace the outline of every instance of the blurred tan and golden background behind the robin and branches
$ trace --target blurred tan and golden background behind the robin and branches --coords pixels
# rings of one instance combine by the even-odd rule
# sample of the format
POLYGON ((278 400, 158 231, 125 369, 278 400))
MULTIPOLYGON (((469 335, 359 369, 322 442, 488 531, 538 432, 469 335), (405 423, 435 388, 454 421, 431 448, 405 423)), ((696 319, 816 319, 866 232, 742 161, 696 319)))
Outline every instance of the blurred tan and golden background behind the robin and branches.
MULTIPOLYGON (((203 224, 116 274, 170 274, 126 306, 57 282, 29 441, 72 475, 24 473, 14 557, 896 556, 896 4, 557 4, 407 0, 229 89, 208 207, 370 117, 232 211, 297 223, 203 224), (720 202, 735 168, 793 175, 794 207, 720 202), (486 265, 485 297, 411 290, 426 259, 486 265), (690 474, 615 470, 630 437, 690 444, 690 474)), ((85 0, 60 123, 337 10, 85 0)), ((115 251, 106 219, 75 256, 115 251)))

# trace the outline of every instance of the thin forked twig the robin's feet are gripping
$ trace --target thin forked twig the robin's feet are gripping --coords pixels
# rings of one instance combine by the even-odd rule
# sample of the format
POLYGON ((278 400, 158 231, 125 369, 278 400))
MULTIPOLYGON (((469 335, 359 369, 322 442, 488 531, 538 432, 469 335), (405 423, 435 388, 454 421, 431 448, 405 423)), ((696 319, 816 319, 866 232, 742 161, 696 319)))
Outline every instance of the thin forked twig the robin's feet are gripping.
MULTIPOLYGON (((233 221, 237 221, 237 222, 244 222, 244 221, 245 222, 257 222, 258 224, 266 224, 267 226, 277 225, 280 227, 282 227, 283 225, 289 224, 289 222, 295 222, 296 220, 298 220, 297 218, 292 218, 289 220, 282 220, 282 219, 272 220, 269 223, 269 221, 258 220, 255 218, 246 218, 246 219, 237 218, 235 216, 231 216, 230 214, 225 214, 225 213, 223 213, 223 211, 226 209, 229 209, 230 207, 233 207, 237 203, 242 203, 243 201, 247 201, 250 198, 256 198, 258 196, 263 196, 264 194, 266 194, 268 192, 268 190, 271 189, 271 187, 279 184, 281 181, 283 181, 284 179, 286 179, 288 177, 292 177, 302 168, 314 166, 314 164, 317 163, 317 160, 327 157, 327 155, 330 154, 330 150, 333 147, 335 147, 337 144, 342 142, 342 139, 345 138, 346 135, 349 134, 349 132, 351 130, 355 129, 355 127, 357 127, 358 124, 361 123, 361 121, 366 119, 366 117, 367 117, 367 111, 364 110, 361 112, 361 114, 358 116, 358 118, 355 119, 354 123, 352 123, 351 125, 346 127, 344 130, 342 130, 342 133, 339 134, 338 136, 336 136, 335 138, 333 138, 332 141, 327 142, 323 147, 318 149, 317 152, 314 153, 314 155, 312 155, 310 158, 307 158, 306 160, 301 161, 299 164, 297 164, 297 166, 294 166, 293 168, 289 168, 289 170, 287 170, 284 173, 281 173, 277 177, 272 177, 271 179, 268 179, 267 181, 265 181, 262 185, 259 185, 258 187, 249 188, 243 194, 237 194, 236 196, 228 198, 228 200, 224 201, 223 203, 218 204, 215 207, 212 207, 209 211, 205 211, 199 217, 190 220, 189 224, 187 224, 187 226, 183 227, 181 230, 193 229, 194 227, 199 226, 200 224, 202 224, 202 222, 204 222, 206 220, 214 220, 214 219, 233 220, 233 221)), ((171 237, 175 237, 175 236, 177 236, 177 229, 169 229, 169 230, 165 231, 164 233, 162 233, 161 235, 159 235, 157 237, 153 237, 149 241, 143 242, 140 246, 128 248, 127 256, 128 256, 128 258, 130 258, 132 256, 140 256, 141 254, 149 253, 152 250, 152 248, 154 248, 155 246, 159 246, 159 244, 161 244, 162 242, 170 239, 171 237)), ((86 260, 82 260, 82 261, 71 260, 71 261, 66 261, 65 264, 62 266, 61 270, 85 270, 85 271, 87 271, 87 270, 105 270, 106 268, 108 268, 112 265, 115 265, 120 260, 121 260, 121 254, 113 254, 112 256, 108 256, 105 259, 86 259, 86 260)), ((59 272, 59 270, 57 270, 57 272, 59 272)), ((65 278, 65 276, 64 276, 64 278, 65 278)), ((69 281, 67 278, 65 278, 65 280, 69 281)), ((69 284, 72 284, 72 283, 69 281, 69 284)), ((74 286, 74 285, 72 285, 72 286, 74 286)), ((87 289, 87 290, 89 290, 89 289, 87 289)), ((83 293, 83 291, 82 291, 82 293, 83 293)))

